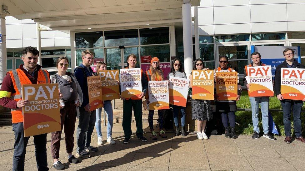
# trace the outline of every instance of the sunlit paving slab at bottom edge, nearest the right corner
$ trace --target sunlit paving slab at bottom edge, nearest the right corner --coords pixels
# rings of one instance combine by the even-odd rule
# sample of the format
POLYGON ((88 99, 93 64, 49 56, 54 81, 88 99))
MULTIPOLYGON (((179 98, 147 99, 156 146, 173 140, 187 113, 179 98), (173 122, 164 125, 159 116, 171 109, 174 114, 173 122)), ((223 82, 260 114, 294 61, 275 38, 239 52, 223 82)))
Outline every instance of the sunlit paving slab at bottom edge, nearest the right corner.
POLYGON ((254 170, 297 170, 284 158, 248 156, 246 158, 254 170))

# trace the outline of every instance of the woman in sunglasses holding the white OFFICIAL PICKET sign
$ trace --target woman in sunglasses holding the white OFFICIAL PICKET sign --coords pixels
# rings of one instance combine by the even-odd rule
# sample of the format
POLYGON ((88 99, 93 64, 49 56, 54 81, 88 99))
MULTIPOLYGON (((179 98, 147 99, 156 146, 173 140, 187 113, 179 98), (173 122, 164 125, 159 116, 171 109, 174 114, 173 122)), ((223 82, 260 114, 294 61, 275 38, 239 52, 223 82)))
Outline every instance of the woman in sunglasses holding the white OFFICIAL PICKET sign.
MULTIPOLYGON (((186 78, 186 74, 183 72, 180 59, 176 58, 172 61, 171 72, 167 76, 168 80, 169 80, 169 77, 186 78)), ((175 126, 176 126, 175 135, 178 136, 180 133, 179 123, 178 123, 179 110, 181 111, 181 135, 186 136, 186 133, 184 131, 186 108, 173 105, 173 119, 174 119, 175 126)))

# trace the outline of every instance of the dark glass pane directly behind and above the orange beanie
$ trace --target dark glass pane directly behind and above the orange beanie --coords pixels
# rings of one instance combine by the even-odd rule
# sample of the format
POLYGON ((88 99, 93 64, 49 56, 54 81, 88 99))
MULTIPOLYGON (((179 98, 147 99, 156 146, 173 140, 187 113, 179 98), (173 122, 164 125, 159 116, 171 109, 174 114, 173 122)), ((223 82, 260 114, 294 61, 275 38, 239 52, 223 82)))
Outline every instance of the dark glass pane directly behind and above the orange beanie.
POLYGON ((141 56, 158 57, 160 62, 170 62, 169 45, 141 46, 141 56))

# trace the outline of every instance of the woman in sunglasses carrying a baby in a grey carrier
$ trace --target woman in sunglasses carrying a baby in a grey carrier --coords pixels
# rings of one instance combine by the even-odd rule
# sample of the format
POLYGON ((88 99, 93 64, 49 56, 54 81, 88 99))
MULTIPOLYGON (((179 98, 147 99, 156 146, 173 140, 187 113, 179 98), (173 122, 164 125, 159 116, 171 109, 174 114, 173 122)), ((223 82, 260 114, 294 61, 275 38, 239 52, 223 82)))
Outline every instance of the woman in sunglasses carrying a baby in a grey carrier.
MULTIPOLYGON (((60 92, 63 94, 63 98, 59 100, 60 120, 62 130, 63 126, 65 126, 65 141, 68 161, 70 163, 78 163, 78 159, 72 155, 74 147, 73 134, 77 112, 79 112, 78 106, 83 102, 83 93, 74 74, 67 72, 69 62, 66 57, 58 58, 56 67, 58 73, 51 75, 50 78, 52 83, 58 83, 60 92)), ((65 169, 65 166, 58 160, 62 130, 51 133, 51 154, 54 159, 53 167, 57 170, 65 169)))

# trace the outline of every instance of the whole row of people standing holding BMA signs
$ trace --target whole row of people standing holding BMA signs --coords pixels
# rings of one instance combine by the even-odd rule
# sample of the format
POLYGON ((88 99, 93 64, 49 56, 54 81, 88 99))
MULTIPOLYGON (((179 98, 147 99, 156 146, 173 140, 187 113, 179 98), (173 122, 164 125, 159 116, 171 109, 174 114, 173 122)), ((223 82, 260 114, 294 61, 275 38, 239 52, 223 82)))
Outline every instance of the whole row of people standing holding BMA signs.
MULTIPOLYGON (((279 71, 281 67, 286 68, 305 68, 304 65, 299 64, 293 59, 293 51, 290 49, 285 50, 284 56, 286 60, 283 64, 277 67, 275 76, 275 93, 277 98, 281 100, 281 104, 284 112, 284 127, 286 134, 286 143, 291 143, 291 126, 290 126, 290 113, 291 107, 293 108, 294 115, 294 129, 296 138, 299 141, 305 142, 301 133, 301 119, 300 112, 302 109, 302 101, 291 101, 283 99, 280 93, 279 86, 279 71), (292 57, 292 59, 290 59, 292 57)), ((15 134, 14 143, 14 155, 13 155, 13 170, 23 170, 24 160, 26 154, 26 147, 29 137, 24 137, 23 133, 23 116, 22 107, 24 107, 28 100, 21 98, 21 86, 22 84, 37 84, 37 83, 58 83, 59 97, 60 97, 60 117, 61 128, 65 131, 66 151, 68 153, 68 161, 70 163, 78 163, 76 157, 89 158, 91 152, 98 151, 98 148, 91 146, 91 135, 93 133, 94 126, 97 130, 98 145, 103 144, 102 131, 101 131, 101 111, 102 108, 97 110, 90 110, 89 98, 88 98, 88 85, 87 77, 97 75, 91 69, 93 64, 94 55, 89 50, 82 52, 82 64, 74 69, 74 74, 67 71, 69 62, 66 57, 60 57, 56 62, 58 73, 49 76, 49 73, 41 69, 41 66, 37 64, 39 52, 33 47, 27 47, 22 51, 22 60, 24 64, 21 64, 18 69, 9 71, 3 79, 2 87, 0 90, 0 105, 8 107, 12 111, 12 129, 15 134), (74 147, 74 127, 76 118, 79 119, 76 130, 77 150, 76 157, 72 154, 74 147)), ((252 63, 249 66, 262 66, 260 62, 261 56, 259 53, 253 53, 251 55, 252 63)), ((127 59, 128 67, 126 69, 136 68, 137 56, 130 54, 127 59)), ((142 98, 146 97, 148 100, 148 81, 162 81, 169 77, 187 78, 183 72, 182 63, 179 59, 173 59, 171 64, 171 72, 164 76, 162 69, 159 66, 160 61, 157 57, 151 59, 151 66, 148 71, 143 73, 142 77, 142 93, 138 98, 123 98, 123 131, 124 140, 123 143, 127 144, 131 138, 131 118, 132 112, 136 121, 136 136, 139 140, 147 141, 143 136, 143 124, 142 124, 142 98)), ((220 56, 219 67, 214 70, 216 72, 234 72, 235 70, 228 67, 228 58, 226 56, 220 56)), ((194 61, 194 70, 208 70, 204 67, 202 59, 196 59, 194 61)), ((104 62, 98 62, 97 70, 106 70, 106 64, 104 62)), ((245 82, 247 88, 251 85, 245 82)), ((190 88, 192 88, 192 76, 190 76, 190 88)), ((216 94, 216 93, 215 93, 216 94)), ((216 112, 219 112, 222 118, 222 124, 225 128, 225 137, 237 138, 235 131, 235 111, 237 110, 236 101, 240 99, 241 86, 238 83, 238 95, 236 100, 231 101, 219 101, 217 95, 215 95, 216 112)), ((258 128, 258 105, 261 104, 262 108, 262 121, 264 129, 264 137, 275 140, 275 138, 269 133, 268 124, 268 106, 269 97, 250 97, 252 106, 252 121, 254 126, 253 139, 259 137, 258 128)), ((108 115, 107 124, 107 142, 110 144, 116 144, 112 138, 113 127, 113 108, 111 100, 104 101, 104 110, 108 115)), ((186 108, 173 105, 173 121, 176 126, 175 135, 180 135, 180 128, 178 124, 178 113, 181 112, 181 135, 186 136, 184 130, 186 108)), ((148 108, 149 110, 149 108, 148 108)), ((205 129, 207 121, 213 118, 212 100, 196 100, 192 99, 192 119, 197 120, 197 138, 208 139, 205 129)), ((148 123, 150 127, 150 138, 153 140, 158 139, 158 135, 153 127, 153 115, 154 110, 149 110, 148 123)), ((158 110, 158 134, 162 138, 166 138, 167 135, 163 130, 163 110, 158 110)), ((51 155, 54 159, 53 166, 55 169, 65 169, 65 166, 59 161, 59 148, 61 140, 61 131, 51 133, 51 155)), ((37 161, 38 170, 48 170, 47 168, 47 153, 46 143, 47 134, 34 135, 35 155, 37 161)))

